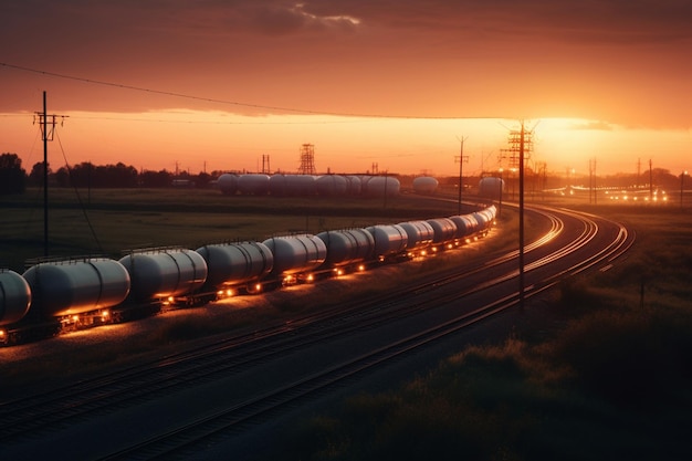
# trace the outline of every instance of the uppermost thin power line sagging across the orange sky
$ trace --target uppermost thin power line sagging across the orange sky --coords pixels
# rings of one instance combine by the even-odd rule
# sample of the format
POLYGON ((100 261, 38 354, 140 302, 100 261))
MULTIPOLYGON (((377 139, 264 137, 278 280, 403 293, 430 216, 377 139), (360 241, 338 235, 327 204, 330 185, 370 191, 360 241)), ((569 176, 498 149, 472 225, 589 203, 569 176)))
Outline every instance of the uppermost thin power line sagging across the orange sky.
POLYGON ((90 83, 90 84, 93 84, 93 85, 111 86, 111 87, 116 87, 116 88, 122 88, 122 90, 130 90, 130 91, 137 91, 137 92, 150 93, 150 94, 159 94, 159 95, 165 95, 165 96, 180 97, 180 98, 185 98, 185 99, 201 101, 201 102, 206 102, 206 103, 233 105, 233 106, 249 107, 249 108, 261 108, 261 109, 268 109, 268 111, 292 112, 292 113, 296 113, 296 114, 306 114, 306 115, 334 115, 334 116, 340 116, 340 117, 411 118, 411 119, 416 119, 416 118, 418 118, 418 119, 463 119, 463 118, 475 118, 475 119, 479 119, 479 118, 487 118, 487 119, 507 118, 507 119, 511 119, 511 118, 515 118, 515 117, 510 117, 510 116, 492 116, 492 117, 491 116, 474 116, 474 117, 471 117, 471 116, 419 116, 419 115, 390 115, 390 114, 389 115, 388 114, 359 114, 359 113, 348 113, 348 112, 329 112, 329 111, 302 109, 302 108, 295 108, 295 107, 282 107, 282 106, 252 104, 252 103, 241 103, 241 102, 237 102, 237 101, 218 99, 218 98, 213 98, 213 97, 195 96, 195 95, 189 95, 189 94, 184 94, 184 93, 176 93, 176 92, 161 91, 161 90, 153 90, 153 88, 147 88, 147 87, 144 87, 144 86, 126 85, 126 84, 122 84, 122 83, 105 82, 105 81, 101 81, 101 80, 86 78, 86 77, 81 77, 81 76, 75 76, 75 75, 67 75, 67 74, 61 74, 61 73, 56 73, 56 72, 41 71, 41 70, 38 70, 38 69, 31 69, 31 67, 25 67, 25 66, 21 66, 21 65, 4 63, 4 62, 0 62, 0 66, 8 67, 8 69, 13 69, 13 70, 17 70, 17 71, 22 71, 22 72, 30 72, 30 73, 34 73, 34 74, 56 77, 56 78, 65 78, 65 80, 72 80, 72 81, 76 81, 76 82, 90 83))

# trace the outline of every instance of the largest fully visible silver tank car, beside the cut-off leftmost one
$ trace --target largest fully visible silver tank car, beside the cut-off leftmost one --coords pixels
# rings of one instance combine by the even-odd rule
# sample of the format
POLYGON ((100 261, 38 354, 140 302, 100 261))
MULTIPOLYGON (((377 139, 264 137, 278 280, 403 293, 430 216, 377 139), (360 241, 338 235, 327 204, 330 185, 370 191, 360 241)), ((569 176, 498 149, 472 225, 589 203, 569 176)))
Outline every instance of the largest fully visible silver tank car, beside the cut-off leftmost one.
POLYGON ((125 268, 103 258, 40 263, 27 270, 23 277, 31 287, 32 311, 52 316, 117 305, 130 289, 125 268))

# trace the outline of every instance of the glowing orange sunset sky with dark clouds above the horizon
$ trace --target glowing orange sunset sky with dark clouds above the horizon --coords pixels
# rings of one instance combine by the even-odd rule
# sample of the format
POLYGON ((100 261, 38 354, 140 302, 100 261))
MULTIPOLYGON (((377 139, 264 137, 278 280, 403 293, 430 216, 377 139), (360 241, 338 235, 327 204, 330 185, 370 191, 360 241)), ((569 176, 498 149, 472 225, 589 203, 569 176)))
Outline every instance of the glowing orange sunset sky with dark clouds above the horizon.
MULTIPOLYGON (((453 175, 535 127, 548 170, 692 170, 689 0, 4 0, 0 151, 50 163, 453 175), (642 167, 643 169, 643 167, 642 167)), ((530 165, 531 165, 530 161, 530 165)))

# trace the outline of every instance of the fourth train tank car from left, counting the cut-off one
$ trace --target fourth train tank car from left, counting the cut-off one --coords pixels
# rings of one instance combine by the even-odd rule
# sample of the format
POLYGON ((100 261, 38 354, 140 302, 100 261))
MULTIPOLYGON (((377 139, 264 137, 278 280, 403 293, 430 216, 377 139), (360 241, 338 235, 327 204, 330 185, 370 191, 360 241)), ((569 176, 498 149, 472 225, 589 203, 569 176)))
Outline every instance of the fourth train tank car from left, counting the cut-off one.
POLYGON ((207 261, 207 285, 245 283, 272 271, 274 255, 260 242, 220 243, 196 250, 207 261))

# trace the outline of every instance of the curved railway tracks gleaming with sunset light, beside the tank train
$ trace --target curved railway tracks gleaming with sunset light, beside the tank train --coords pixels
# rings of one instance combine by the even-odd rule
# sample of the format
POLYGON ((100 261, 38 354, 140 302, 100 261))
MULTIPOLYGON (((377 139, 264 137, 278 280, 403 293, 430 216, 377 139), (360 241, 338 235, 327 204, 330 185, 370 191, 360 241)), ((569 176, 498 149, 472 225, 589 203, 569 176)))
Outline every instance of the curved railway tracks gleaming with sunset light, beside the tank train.
MULTIPOLYGON (((633 242, 622 226, 598 217, 538 207, 527 212, 541 217, 546 230, 525 248, 525 298, 565 276, 608 268, 633 242)), ((249 421, 281 415, 335 384, 348 384, 516 305, 517 253, 251 336, 4 402, 0 455, 189 459, 203 458, 210 447, 223 450, 249 421)))

